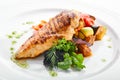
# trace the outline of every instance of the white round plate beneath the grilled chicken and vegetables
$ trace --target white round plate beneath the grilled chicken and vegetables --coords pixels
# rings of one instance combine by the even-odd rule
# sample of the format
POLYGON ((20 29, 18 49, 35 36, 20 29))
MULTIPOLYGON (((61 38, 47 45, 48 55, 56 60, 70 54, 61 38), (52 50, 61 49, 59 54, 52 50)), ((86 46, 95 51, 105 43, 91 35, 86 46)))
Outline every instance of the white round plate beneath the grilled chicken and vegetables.
MULTIPOLYGON (((17 30, 17 31, 24 31, 29 29, 32 25, 23 25, 22 23, 27 21, 36 22, 35 24, 39 23, 40 20, 48 20, 49 18, 55 16, 59 12, 61 12, 65 8, 43 8, 43 9, 33 9, 29 11, 21 12, 16 16, 8 19, 7 22, 3 22, 4 27, 0 29, 0 60, 2 69, 4 71, 3 74, 0 73, 1 79, 20 79, 23 80, 79 80, 79 79, 88 79, 103 74, 106 71, 109 71, 110 67, 113 66, 116 61, 118 60, 118 34, 114 31, 111 22, 109 21, 110 18, 107 18, 106 15, 101 13, 102 11, 94 11, 93 8, 88 8, 85 6, 81 6, 81 8, 74 8, 77 10, 81 10, 82 12, 87 12, 92 14, 96 17, 96 24, 104 25, 107 27, 107 33, 102 41, 97 41, 91 47, 93 55, 89 58, 85 59, 86 68, 82 71, 70 71, 70 72, 63 72, 58 71, 57 77, 51 77, 48 71, 42 64, 42 57, 38 57, 33 60, 28 60, 30 67, 28 69, 22 69, 18 67, 15 63, 10 60, 11 54, 9 48, 11 46, 10 40, 7 39, 6 34, 17 30), (104 17, 104 18, 103 18, 104 17), (6 27, 9 26, 9 27, 6 27), (108 41, 108 39, 111 41, 108 41), (108 48, 111 46, 112 48, 108 48), (105 59, 106 61, 103 62, 102 60, 105 59), (8 74, 5 75, 5 74, 8 74)), ((69 8, 68 8, 69 9, 69 8)), ((112 18, 114 19, 114 18, 112 18)), ((32 34, 32 32, 28 32, 26 35, 22 37, 22 39, 18 40, 19 43, 15 46, 16 49, 32 34)), ((101 80, 101 79, 100 79, 101 80)))

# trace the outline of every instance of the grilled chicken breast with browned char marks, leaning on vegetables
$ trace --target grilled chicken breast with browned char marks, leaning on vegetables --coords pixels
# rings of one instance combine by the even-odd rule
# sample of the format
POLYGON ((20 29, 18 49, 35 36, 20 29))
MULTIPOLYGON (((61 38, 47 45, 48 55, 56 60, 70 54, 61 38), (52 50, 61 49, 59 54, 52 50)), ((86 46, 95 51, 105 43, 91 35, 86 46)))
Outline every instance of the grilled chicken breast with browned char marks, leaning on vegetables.
POLYGON ((79 26, 80 12, 63 11, 36 31, 16 52, 15 58, 34 58, 50 49, 60 38, 71 40, 79 26))

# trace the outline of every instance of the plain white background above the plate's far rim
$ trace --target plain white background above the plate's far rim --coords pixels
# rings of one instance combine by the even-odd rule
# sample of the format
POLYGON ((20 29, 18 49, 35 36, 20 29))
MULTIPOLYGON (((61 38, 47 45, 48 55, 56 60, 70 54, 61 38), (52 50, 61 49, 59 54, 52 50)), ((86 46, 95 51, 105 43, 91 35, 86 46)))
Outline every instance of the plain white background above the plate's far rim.
MULTIPOLYGON (((9 8, 15 8, 15 6, 23 7, 26 6, 26 8, 32 6, 36 7, 62 7, 67 6, 68 3, 71 1, 74 2, 84 2, 86 4, 91 4, 92 6, 98 6, 102 8, 106 8, 108 10, 111 10, 113 12, 116 12, 120 14, 120 1, 119 0, 0 0, 0 14, 5 14, 5 10, 9 11, 9 8), (45 3, 42 3, 42 2, 45 3), (62 4, 59 4, 61 2, 62 4)), ((73 4, 75 5, 75 4, 73 4)), ((72 5, 71 5, 72 6, 72 5)), ((19 11, 19 10, 18 10, 19 11)), ((9 11, 10 12, 10 11, 9 11)))

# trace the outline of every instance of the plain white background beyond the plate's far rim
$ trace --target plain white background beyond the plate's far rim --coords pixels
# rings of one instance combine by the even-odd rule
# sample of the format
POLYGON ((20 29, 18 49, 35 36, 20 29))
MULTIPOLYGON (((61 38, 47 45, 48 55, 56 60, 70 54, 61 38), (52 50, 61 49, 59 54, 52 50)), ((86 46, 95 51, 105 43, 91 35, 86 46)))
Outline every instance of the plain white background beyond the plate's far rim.
MULTIPOLYGON (((45 5, 45 4, 41 4, 42 1, 46 1, 46 4, 49 4, 50 2, 54 4, 54 2, 56 2, 56 0, 0 0, 0 8, 11 7, 13 5, 20 5, 20 4, 30 5, 36 2, 40 4, 39 6, 45 5)), ((58 1, 61 1, 61 0, 58 0, 58 1)), ((71 0, 65 0, 65 1, 68 1, 69 3, 71 0)), ((85 3, 90 3, 90 4, 92 3, 95 6, 96 5, 101 6, 111 11, 118 12, 120 14, 120 1, 119 0, 74 0, 74 1, 85 2, 85 3)), ((65 4, 67 5, 67 3, 65 4)))

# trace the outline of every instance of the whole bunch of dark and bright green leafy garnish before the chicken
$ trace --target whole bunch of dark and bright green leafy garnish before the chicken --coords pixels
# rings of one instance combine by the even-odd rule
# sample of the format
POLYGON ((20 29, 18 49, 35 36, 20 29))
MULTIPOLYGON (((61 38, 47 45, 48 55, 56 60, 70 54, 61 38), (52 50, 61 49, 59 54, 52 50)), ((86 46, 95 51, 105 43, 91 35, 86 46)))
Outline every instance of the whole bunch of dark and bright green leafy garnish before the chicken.
POLYGON ((53 69, 58 67, 63 70, 68 70, 73 67, 77 70, 85 68, 83 65, 84 57, 82 54, 75 53, 76 46, 72 41, 65 39, 58 40, 50 50, 45 52, 44 65, 53 69))

